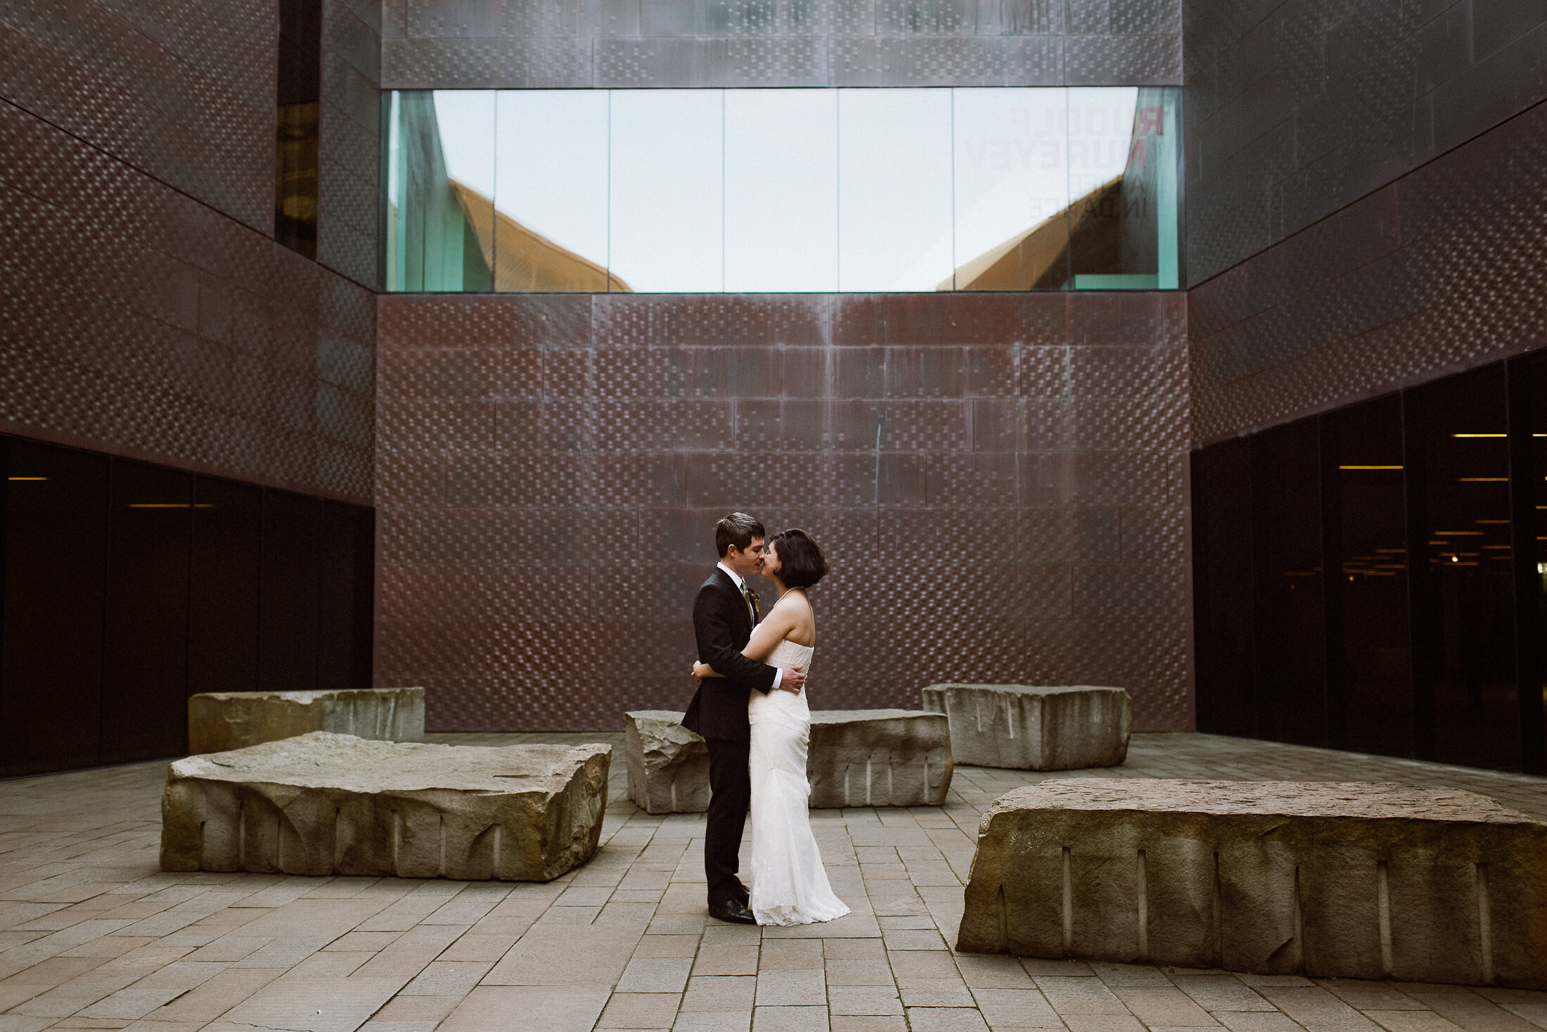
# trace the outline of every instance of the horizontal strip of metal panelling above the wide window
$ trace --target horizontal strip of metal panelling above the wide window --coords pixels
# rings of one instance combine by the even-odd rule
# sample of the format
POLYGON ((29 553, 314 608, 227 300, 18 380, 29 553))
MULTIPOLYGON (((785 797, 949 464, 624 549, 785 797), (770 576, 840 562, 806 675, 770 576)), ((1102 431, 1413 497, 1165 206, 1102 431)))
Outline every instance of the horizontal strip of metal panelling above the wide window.
POLYGON ((388 0, 382 85, 1176 85, 1182 0, 388 0))

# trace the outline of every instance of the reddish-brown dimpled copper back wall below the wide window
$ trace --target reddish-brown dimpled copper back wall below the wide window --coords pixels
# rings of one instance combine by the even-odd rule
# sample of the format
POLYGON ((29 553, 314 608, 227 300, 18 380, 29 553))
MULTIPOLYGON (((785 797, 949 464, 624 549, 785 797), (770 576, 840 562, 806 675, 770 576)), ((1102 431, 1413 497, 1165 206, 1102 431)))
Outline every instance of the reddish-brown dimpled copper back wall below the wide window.
POLYGON ((832 560, 814 706, 1095 682, 1191 726, 1180 294, 377 305, 376 678, 433 727, 685 706, 730 507, 832 560))

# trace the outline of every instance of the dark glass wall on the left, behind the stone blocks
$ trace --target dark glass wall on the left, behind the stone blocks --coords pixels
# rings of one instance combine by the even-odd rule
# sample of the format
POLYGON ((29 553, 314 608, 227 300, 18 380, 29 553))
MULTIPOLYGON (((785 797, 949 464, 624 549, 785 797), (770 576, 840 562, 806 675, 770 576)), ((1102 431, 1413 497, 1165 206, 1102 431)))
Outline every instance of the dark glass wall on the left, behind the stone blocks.
POLYGON ((198 692, 371 684, 371 509, 20 438, 0 464, 0 777, 179 755, 198 692))

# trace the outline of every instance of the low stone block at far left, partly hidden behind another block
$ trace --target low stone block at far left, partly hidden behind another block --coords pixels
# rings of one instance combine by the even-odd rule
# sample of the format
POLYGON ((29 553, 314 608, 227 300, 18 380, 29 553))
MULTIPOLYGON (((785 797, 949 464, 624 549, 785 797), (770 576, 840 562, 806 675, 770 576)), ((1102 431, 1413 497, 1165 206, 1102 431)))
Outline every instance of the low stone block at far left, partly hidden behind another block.
POLYGON ((424 689, 209 692, 189 698, 189 752, 226 752, 314 730, 382 741, 424 738, 424 689))

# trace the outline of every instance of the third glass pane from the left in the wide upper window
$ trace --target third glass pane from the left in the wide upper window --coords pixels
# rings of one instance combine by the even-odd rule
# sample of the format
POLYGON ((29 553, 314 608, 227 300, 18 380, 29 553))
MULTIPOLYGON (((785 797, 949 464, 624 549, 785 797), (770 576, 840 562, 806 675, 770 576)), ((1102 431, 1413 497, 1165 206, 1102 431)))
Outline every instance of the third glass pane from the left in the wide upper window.
POLYGON ((616 90, 613 275, 634 291, 721 291, 722 90, 616 90))

